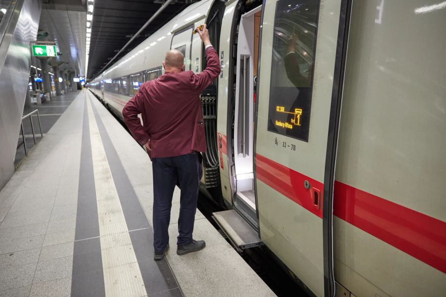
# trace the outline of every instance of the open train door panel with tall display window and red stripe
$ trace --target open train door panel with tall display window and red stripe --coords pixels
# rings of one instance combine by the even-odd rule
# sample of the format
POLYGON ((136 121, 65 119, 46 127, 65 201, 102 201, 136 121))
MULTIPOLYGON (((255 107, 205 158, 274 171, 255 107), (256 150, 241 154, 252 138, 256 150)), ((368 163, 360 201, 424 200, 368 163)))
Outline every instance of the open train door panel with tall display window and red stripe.
POLYGON ((333 188, 349 0, 264 1, 255 129, 261 240, 334 296, 333 188))

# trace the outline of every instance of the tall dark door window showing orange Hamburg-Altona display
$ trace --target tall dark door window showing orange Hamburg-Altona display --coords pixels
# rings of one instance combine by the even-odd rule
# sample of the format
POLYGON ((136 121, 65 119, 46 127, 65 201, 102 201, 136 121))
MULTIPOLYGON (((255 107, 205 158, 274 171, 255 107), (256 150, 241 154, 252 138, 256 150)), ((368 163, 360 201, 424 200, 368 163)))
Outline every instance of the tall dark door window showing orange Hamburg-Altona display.
POLYGON ((308 142, 318 0, 277 2, 268 131, 308 142))

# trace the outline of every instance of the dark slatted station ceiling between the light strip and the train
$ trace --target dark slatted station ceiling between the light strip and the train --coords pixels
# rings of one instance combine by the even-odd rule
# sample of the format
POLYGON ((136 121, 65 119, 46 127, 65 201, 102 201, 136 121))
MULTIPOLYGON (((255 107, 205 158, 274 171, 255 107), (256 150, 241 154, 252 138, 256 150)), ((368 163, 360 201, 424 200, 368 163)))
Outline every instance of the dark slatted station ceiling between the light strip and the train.
MULTIPOLYGON (((135 48, 181 10, 197 1, 172 1, 114 61, 135 48)), ((165 0, 95 0, 87 78, 96 77, 164 2, 165 0)))

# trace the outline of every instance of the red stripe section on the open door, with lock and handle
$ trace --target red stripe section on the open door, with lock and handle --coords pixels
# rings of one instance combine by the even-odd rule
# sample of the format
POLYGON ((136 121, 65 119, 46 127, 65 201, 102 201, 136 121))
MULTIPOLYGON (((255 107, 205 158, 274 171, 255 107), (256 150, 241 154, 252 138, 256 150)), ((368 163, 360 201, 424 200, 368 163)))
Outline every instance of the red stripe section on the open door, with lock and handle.
POLYGON ((322 218, 323 183, 260 154, 256 155, 256 175, 258 180, 322 218), (308 190, 305 189, 305 181, 310 183, 310 189, 308 190), (314 205, 313 188, 319 190, 320 193, 320 205, 318 207, 314 205))

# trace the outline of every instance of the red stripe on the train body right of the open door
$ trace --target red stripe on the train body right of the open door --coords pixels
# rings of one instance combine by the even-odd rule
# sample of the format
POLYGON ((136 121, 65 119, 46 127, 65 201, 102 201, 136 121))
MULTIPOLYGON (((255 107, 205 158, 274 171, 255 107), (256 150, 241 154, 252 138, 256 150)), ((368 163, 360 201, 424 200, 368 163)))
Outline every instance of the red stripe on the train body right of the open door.
POLYGON ((446 223, 335 182, 335 216, 446 273, 446 223))

